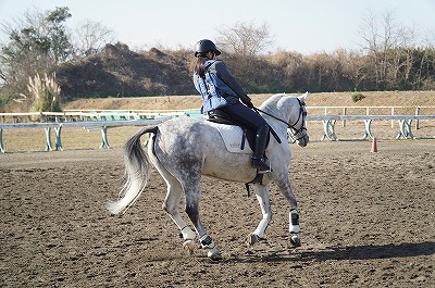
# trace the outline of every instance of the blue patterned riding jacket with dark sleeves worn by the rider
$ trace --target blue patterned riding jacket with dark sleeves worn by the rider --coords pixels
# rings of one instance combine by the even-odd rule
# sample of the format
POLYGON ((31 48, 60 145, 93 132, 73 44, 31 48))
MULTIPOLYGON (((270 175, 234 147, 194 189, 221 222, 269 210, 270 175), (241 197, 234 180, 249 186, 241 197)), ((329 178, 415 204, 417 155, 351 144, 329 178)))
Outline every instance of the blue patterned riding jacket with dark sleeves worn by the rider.
POLYGON ((241 85, 233 77, 224 62, 219 60, 206 61, 204 77, 194 73, 194 84, 201 93, 204 104, 202 113, 211 110, 239 103, 239 100, 250 101, 241 85))

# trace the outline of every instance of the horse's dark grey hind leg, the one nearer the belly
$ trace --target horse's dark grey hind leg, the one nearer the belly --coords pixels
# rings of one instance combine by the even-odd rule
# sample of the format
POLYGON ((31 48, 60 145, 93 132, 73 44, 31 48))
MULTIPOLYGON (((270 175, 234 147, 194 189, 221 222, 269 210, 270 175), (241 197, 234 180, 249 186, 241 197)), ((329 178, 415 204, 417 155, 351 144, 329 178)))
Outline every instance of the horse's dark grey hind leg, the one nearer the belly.
POLYGON ((201 248, 209 249, 208 256, 211 260, 221 260, 221 252, 214 245, 213 239, 207 235, 206 229, 199 218, 199 185, 198 189, 192 189, 186 192, 186 213, 199 235, 199 243, 201 245, 201 248))

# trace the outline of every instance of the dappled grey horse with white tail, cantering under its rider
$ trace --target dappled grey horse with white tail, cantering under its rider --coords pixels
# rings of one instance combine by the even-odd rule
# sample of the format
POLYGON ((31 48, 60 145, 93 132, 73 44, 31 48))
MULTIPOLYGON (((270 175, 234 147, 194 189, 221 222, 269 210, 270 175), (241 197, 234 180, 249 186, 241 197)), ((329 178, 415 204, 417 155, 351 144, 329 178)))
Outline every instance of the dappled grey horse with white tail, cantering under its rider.
MULTIPOLYGON (((300 226, 297 200, 293 193, 288 168, 291 152, 288 139, 304 147, 309 142, 306 128, 306 98, 301 96, 274 95, 259 109, 254 108, 269 123, 277 137, 270 137, 265 154, 271 170, 264 174, 251 167, 250 153, 229 152, 215 124, 206 120, 178 117, 167 120, 157 126, 147 126, 134 135, 124 147, 124 186, 120 199, 109 202, 107 209, 112 214, 124 214, 145 190, 151 165, 157 168, 167 185, 163 210, 176 224, 183 236, 184 249, 191 254, 198 235, 202 249, 208 249, 211 260, 222 259, 212 238, 206 233, 200 221, 200 178, 202 175, 214 178, 251 183, 260 203, 262 220, 249 235, 248 245, 253 246, 264 238, 265 229, 272 220, 269 184, 275 183, 289 204, 289 242, 300 247, 300 226), (145 152, 140 137, 147 134, 148 151, 145 152), (285 140, 285 141, 283 141, 285 140), (258 178, 259 176, 260 179, 258 178), (184 195, 185 212, 195 231, 182 218, 178 204, 184 195)), ((228 126, 226 126, 228 127, 228 126)), ((233 126, 234 129, 241 129, 233 126)), ((247 148, 245 148, 247 149, 247 148)))

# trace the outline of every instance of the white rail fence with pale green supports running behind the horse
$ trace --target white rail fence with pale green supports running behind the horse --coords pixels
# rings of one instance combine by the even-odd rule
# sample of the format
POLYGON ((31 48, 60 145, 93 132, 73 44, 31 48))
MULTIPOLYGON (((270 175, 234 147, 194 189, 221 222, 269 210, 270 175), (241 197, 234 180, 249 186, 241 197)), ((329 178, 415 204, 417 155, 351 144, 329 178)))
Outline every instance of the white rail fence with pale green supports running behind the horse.
MULTIPOLYGON (((415 121, 415 128, 419 128, 418 123, 420 120, 435 120, 435 107, 420 107, 420 108, 406 108, 406 107, 308 107, 309 115, 307 116, 307 121, 318 121, 322 122, 323 125, 323 135, 321 140, 338 140, 338 137, 335 132, 335 126, 337 121, 343 121, 343 126, 346 126, 346 121, 364 121, 364 134, 362 138, 371 137, 374 138, 373 133, 371 130, 372 121, 377 120, 390 120, 391 128, 393 122, 398 121, 399 129, 397 134, 397 139, 406 139, 411 138, 415 139, 417 137, 412 134, 412 121, 415 121), (421 109, 428 109, 428 111, 434 111, 431 114, 420 115, 421 109), (313 110, 323 110, 324 114, 311 115, 311 111, 313 110), (338 114, 337 109, 341 110, 341 114, 338 114), (355 109, 356 111, 365 110, 365 115, 349 115, 349 109, 355 109), (388 115, 371 115, 371 111, 376 111, 380 109, 388 109, 391 114, 388 115), (395 111, 399 109, 414 110, 415 114, 402 114, 395 115, 395 111), (334 115, 330 115, 328 113, 337 113, 334 115)), ((355 113, 355 112, 353 112, 355 113)), ((5 148, 3 145, 3 129, 10 128, 44 128, 46 132, 46 150, 63 150, 62 139, 61 139, 61 130, 62 128, 67 127, 99 127, 102 132, 101 139, 101 148, 109 148, 108 141, 108 127, 115 126, 145 126, 145 125, 153 125, 159 124, 162 121, 165 121, 171 117, 198 117, 202 118, 203 116, 199 113, 198 110, 176 110, 176 111, 90 111, 90 110, 80 110, 80 111, 65 111, 65 112, 41 112, 41 113, 0 113, 0 118, 2 123, 0 123, 0 152, 4 153, 5 148), (30 122, 30 121, 39 121, 39 122, 30 122), (9 122, 9 123, 8 123, 9 122), (51 145, 51 129, 55 132, 55 145, 51 145)), ((434 136, 435 137, 435 136, 434 136)))

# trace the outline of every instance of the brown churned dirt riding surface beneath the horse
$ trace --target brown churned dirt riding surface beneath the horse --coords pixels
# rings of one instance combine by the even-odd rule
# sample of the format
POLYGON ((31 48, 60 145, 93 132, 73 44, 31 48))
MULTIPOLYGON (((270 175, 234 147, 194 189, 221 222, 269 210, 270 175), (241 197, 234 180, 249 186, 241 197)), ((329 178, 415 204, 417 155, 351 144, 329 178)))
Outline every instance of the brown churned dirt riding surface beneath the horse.
POLYGON ((202 220, 220 262, 182 249, 156 171, 125 215, 108 213, 124 168, 116 145, 0 154, 0 286, 434 287, 435 141, 380 140, 371 153, 370 141, 314 138, 291 146, 296 250, 275 186, 266 240, 247 248, 261 220, 256 197, 203 178, 202 220))

